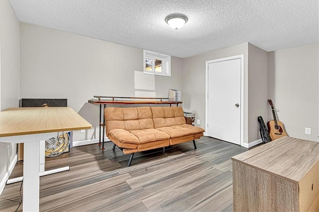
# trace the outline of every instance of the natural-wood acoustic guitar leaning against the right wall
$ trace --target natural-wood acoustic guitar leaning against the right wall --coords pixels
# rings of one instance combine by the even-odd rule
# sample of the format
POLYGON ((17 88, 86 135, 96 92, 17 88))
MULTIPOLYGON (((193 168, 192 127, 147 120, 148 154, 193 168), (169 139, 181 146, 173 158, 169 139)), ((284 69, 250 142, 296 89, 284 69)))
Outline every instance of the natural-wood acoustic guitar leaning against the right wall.
POLYGON ((275 113, 275 107, 273 105, 273 102, 271 100, 268 100, 269 105, 271 106, 271 109, 273 111, 274 120, 268 121, 268 132, 272 140, 276 140, 283 136, 288 136, 285 129, 283 122, 277 120, 276 113, 275 113))

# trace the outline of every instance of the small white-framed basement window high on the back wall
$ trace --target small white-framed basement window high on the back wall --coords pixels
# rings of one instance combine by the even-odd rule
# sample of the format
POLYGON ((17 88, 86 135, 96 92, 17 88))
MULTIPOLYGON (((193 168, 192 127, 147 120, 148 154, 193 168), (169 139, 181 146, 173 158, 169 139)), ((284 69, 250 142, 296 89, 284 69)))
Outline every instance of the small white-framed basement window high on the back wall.
POLYGON ((144 74, 170 77, 170 56, 143 50, 144 74))

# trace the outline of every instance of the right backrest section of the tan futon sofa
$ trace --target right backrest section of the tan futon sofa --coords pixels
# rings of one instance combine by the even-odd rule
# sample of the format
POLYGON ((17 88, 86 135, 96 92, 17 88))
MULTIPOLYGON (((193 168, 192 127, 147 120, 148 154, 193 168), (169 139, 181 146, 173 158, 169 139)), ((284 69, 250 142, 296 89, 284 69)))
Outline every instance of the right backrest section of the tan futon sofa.
POLYGON ((173 126, 185 124, 184 111, 180 106, 151 107, 154 127, 173 126))

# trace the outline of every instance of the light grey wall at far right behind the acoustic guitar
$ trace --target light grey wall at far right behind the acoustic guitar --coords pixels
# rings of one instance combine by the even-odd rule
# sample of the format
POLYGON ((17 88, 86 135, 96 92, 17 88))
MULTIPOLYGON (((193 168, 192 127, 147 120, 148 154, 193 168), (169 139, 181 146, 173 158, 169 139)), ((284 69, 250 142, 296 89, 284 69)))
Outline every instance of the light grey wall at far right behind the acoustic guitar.
MULTIPOLYGON (((289 136, 319 141, 319 44, 268 53, 268 93, 289 136), (305 127, 312 134, 305 134, 305 127)), ((269 107, 269 119, 273 119, 269 107)))

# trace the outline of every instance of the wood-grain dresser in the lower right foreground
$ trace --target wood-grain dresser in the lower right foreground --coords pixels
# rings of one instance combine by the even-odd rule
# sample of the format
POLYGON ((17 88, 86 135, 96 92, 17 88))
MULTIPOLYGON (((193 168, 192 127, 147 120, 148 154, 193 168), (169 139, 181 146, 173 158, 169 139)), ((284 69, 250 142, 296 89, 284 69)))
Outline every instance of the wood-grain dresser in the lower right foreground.
POLYGON ((234 212, 319 212, 319 142, 285 136, 232 164, 234 212))

